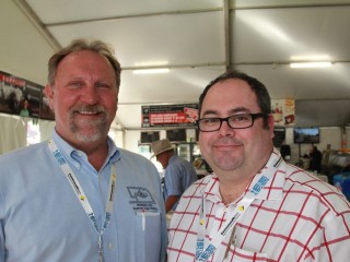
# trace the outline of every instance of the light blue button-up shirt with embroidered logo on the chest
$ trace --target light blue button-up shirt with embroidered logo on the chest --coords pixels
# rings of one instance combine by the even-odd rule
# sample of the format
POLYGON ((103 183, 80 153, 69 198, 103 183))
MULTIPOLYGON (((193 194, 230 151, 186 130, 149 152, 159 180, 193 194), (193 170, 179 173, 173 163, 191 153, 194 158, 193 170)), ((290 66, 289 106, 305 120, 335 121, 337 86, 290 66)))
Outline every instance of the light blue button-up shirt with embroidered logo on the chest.
MULTIPOLYGON (((83 188, 98 228, 105 217, 110 166, 117 186, 103 234, 105 262, 165 260, 166 222, 159 174, 144 157, 117 148, 96 171, 86 155, 55 131, 57 144, 83 188)), ((47 142, 0 157, 0 262, 98 261, 97 234, 47 142)))

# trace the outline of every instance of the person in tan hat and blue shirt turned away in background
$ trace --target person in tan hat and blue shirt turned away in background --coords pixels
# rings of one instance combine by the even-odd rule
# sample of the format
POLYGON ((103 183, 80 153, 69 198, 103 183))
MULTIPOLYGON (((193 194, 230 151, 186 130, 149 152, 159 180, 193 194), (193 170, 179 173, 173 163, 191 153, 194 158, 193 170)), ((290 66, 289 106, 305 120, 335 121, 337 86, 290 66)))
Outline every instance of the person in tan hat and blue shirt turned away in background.
POLYGON ((182 194, 197 180, 197 172, 188 160, 175 155, 170 140, 154 141, 151 148, 164 168, 164 199, 167 213, 175 210, 182 194))

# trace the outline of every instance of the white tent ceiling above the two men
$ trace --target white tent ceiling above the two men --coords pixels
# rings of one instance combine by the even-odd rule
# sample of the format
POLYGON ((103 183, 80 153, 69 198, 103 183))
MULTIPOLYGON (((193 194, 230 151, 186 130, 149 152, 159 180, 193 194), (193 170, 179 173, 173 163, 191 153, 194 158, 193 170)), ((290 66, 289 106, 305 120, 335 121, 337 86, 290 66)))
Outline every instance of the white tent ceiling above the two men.
POLYGON ((55 46, 113 44, 122 66, 118 122, 140 129, 141 105, 197 103, 226 68, 294 98, 298 126, 350 126, 350 0, 13 0, 55 46), (328 69, 291 69, 325 56, 328 69), (302 58, 310 60, 310 58, 302 58), (166 67, 166 74, 136 75, 166 67))

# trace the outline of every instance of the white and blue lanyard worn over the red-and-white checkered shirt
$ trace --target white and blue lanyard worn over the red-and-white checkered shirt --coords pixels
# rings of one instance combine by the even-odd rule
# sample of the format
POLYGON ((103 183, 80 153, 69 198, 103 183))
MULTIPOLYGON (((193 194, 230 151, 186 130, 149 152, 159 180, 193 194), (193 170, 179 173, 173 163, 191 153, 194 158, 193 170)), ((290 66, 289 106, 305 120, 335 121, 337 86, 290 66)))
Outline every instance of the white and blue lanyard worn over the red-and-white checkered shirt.
POLYGON ((230 209, 228 211, 225 216, 231 217, 231 219, 226 219, 226 222, 221 226, 220 230, 212 228, 212 230, 210 231, 211 241, 209 242, 206 249, 206 200, 205 194, 201 195, 201 206, 199 211, 199 228, 196 247, 197 262, 208 261, 208 259, 215 252, 215 250, 220 247, 221 242, 233 230, 237 221, 243 216, 243 214, 247 211, 253 201, 257 198, 257 195, 261 192, 267 182, 271 179, 271 177, 276 172, 277 167, 281 164, 281 159, 282 158, 280 156, 271 157, 268 164, 266 165, 267 171, 264 175, 255 176, 252 186, 249 187, 248 192, 245 194, 245 196, 241 201, 238 201, 234 209, 230 209))

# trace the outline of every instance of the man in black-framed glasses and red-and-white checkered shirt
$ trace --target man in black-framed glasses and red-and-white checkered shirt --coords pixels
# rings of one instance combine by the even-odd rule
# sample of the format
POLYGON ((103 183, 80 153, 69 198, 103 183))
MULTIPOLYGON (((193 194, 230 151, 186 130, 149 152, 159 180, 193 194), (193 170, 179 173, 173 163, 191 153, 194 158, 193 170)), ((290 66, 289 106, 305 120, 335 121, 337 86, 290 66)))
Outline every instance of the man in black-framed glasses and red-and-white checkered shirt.
POLYGON ((183 194, 168 261, 348 261, 350 203, 273 147, 265 85, 226 72, 199 97, 199 146, 213 174, 183 194))

